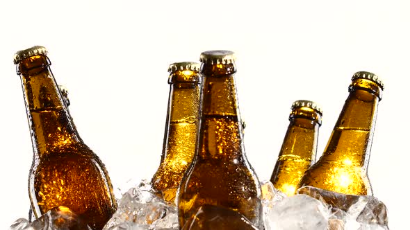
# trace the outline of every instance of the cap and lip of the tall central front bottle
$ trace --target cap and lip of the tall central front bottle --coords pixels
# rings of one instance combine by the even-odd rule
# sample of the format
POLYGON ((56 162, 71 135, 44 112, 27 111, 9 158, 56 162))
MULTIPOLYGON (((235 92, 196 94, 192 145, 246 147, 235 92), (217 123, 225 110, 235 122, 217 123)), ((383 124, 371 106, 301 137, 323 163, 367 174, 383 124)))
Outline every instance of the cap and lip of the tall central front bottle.
POLYGON ((236 73, 236 55, 232 51, 205 51, 199 60, 202 62, 201 73, 204 76, 227 76, 236 73))

